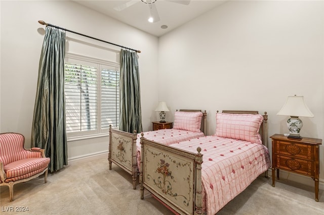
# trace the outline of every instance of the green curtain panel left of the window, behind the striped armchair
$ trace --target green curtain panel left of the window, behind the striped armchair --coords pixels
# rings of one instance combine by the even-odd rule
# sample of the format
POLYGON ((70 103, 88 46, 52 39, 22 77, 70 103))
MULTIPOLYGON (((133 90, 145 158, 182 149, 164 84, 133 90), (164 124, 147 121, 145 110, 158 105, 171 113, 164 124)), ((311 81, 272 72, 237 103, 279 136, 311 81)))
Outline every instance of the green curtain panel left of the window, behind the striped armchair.
POLYGON ((67 165, 64 98, 65 31, 47 26, 39 60, 31 146, 45 149, 49 170, 67 165))

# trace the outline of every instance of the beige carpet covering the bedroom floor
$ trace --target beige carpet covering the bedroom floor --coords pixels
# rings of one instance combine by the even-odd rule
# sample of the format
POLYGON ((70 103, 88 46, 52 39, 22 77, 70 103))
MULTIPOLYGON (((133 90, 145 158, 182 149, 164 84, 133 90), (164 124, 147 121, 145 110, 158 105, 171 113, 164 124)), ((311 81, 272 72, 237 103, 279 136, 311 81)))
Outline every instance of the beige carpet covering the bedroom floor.
MULTIPOLYGON (((14 201, 8 187, 1 187, 1 214, 172 214, 139 186, 132 189, 131 175, 113 165, 106 155, 70 162, 63 170, 16 184, 14 201), (15 211, 28 207, 26 212, 15 211), (8 210, 13 209, 13 212, 8 210)), ((259 177, 229 202, 219 214, 324 214, 324 194, 314 200, 314 188, 288 180, 271 186, 271 178, 259 177)))

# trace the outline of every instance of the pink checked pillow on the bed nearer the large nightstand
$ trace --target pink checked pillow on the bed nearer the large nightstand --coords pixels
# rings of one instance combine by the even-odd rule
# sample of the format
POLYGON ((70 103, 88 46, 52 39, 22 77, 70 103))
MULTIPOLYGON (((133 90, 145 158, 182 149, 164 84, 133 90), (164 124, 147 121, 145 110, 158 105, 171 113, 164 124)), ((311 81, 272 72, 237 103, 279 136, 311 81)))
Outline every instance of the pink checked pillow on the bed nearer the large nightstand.
POLYGON ((259 114, 216 114, 216 136, 262 143, 259 134, 263 116, 259 114))

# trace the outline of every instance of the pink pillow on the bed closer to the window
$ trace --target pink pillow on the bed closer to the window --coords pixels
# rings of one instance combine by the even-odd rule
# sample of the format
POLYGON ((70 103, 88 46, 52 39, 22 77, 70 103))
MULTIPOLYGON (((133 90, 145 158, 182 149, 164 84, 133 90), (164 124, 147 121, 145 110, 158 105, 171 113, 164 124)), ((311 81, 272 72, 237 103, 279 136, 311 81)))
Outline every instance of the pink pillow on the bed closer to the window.
POLYGON ((181 129, 192 132, 200 132, 201 112, 180 112, 174 113, 174 129, 181 129))

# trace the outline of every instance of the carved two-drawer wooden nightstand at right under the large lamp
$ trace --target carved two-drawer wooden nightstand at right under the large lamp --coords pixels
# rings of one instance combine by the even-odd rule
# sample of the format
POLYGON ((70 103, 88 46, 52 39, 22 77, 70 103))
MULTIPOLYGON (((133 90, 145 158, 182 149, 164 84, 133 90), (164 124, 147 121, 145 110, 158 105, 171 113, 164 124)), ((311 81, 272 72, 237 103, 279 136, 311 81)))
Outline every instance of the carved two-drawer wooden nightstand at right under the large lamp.
POLYGON ((321 139, 303 137, 291 139, 274 134, 272 139, 272 186, 274 187, 275 169, 277 179, 279 170, 311 177, 315 181, 315 201, 318 201, 319 189, 319 145, 321 139))

